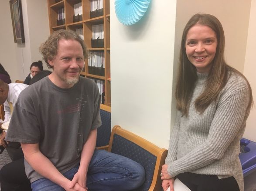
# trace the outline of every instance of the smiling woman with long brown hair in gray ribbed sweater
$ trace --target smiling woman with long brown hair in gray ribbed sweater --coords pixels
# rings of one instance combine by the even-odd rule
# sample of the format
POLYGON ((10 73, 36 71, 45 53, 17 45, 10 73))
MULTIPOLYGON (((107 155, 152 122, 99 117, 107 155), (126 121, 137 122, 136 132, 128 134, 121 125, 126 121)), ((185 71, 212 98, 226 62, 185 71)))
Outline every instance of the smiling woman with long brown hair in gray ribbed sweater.
POLYGON ((240 139, 253 105, 246 78, 224 60, 219 20, 196 14, 184 28, 176 86, 177 117, 161 179, 191 191, 243 191, 240 139))

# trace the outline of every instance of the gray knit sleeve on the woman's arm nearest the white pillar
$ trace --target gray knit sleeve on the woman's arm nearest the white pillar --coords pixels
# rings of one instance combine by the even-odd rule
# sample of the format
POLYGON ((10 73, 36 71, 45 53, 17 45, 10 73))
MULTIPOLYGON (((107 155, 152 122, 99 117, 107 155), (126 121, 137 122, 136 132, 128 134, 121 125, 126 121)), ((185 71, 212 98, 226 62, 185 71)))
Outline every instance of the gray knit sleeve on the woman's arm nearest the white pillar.
POLYGON ((180 128, 180 122, 181 122, 181 112, 177 111, 174 127, 170 134, 169 150, 168 150, 168 155, 165 159, 165 164, 171 163, 172 161, 175 161, 177 158, 177 147, 178 147, 178 139, 179 139, 178 133, 180 128))

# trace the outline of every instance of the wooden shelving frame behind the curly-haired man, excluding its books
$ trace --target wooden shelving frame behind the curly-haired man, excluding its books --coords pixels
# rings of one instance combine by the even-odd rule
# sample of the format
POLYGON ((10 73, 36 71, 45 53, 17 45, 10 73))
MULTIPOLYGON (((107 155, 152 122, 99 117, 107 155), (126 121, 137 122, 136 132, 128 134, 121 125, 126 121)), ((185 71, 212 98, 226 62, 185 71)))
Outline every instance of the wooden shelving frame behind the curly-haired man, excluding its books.
POLYGON ((84 42, 88 47, 88 51, 102 52, 104 54, 104 76, 98 76, 90 74, 88 72, 88 59, 85 59, 85 71, 82 71, 81 75, 88 78, 104 81, 105 102, 103 107, 109 107, 111 105, 109 0, 103 0, 103 15, 95 18, 90 18, 90 0, 61 0, 57 3, 55 0, 47 0, 47 2, 50 33, 53 33, 54 31, 59 29, 69 29, 73 31, 76 31, 76 29, 78 28, 82 29, 82 33, 84 35, 84 42), (80 2, 82 3, 82 20, 78 22, 73 22, 73 16, 75 14, 74 5, 80 2), (65 23, 57 26, 58 12, 62 8, 65 11, 65 23), (97 24, 103 24, 104 47, 102 48, 92 48, 92 26, 97 24))

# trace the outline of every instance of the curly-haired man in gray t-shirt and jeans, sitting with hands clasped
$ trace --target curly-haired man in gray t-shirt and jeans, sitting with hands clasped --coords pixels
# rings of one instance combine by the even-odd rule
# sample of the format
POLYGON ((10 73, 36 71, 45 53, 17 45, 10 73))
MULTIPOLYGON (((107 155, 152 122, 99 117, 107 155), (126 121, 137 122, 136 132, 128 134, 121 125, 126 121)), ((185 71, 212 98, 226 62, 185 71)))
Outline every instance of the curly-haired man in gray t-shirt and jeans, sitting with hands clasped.
POLYGON ((40 47, 53 72, 20 94, 6 140, 21 143, 25 170, 36 191, 126 191, 143 184, 141 165, 95 150, 99 89, 80 77, 83 40, 58 30, 40 47))

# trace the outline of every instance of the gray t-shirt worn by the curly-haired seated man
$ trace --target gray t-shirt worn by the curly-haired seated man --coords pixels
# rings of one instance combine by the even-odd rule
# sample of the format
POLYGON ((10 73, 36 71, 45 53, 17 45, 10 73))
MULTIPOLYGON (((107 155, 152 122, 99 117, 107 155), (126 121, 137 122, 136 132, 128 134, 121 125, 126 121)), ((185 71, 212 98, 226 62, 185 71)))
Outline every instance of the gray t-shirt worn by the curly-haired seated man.
MULTIPOLYGON (((20 93, 5 140, 39 143, 40 151, 64 173, 80 162, 89 132, 101 125, 99 89, 80 77, 72 88, 61 89, 48 77, 20 93)), ((43 178, 25 160, 31 182, 43 178)))

